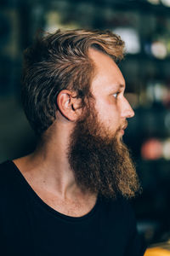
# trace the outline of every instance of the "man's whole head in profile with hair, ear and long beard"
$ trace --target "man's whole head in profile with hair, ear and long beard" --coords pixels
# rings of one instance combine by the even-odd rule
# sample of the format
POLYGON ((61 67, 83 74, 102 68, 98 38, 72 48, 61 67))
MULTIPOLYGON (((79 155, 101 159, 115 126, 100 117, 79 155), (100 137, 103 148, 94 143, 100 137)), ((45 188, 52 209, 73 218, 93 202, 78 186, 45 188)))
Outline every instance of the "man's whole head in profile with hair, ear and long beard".
POLYGON ((116 65, 123 49, 111 32, 75 30, 38 39, 25 54, 22 97, 31 126, 42 135, 59 114, 72 123, 67 156, 77 184, 105 197, 139 189, 122 143, 133 117, 116 65))

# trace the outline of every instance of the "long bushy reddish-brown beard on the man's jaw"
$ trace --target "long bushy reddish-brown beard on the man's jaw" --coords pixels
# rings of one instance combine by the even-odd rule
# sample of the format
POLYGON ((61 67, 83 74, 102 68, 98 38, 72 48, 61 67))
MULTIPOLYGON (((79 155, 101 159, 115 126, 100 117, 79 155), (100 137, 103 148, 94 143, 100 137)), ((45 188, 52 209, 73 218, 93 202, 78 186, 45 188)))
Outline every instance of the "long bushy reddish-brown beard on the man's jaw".
POLYGON ((71 133, 68 158, 78 186, 93 194, 130 198, 139 192, 139 179, 127 146, 99 123, 97 114, 86 114, 71 133))

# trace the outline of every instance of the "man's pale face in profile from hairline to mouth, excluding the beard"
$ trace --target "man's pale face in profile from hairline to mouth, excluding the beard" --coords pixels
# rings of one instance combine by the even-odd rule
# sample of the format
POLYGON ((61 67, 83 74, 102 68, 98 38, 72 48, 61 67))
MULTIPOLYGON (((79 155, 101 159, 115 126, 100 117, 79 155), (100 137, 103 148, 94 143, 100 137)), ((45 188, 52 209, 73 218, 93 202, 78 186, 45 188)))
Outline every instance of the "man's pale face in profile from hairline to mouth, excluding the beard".
POLYGON ((90 49, 89 56, 94 61, 95 73, 91 91, 95 98, 94 106, 99 121, 113 134, 119 127, 122 127, 123 133, 127 126, 127 118, 132 118, 134 113, 124 96, 125 80, 122 72, 111 56, 97 49, 90 49))

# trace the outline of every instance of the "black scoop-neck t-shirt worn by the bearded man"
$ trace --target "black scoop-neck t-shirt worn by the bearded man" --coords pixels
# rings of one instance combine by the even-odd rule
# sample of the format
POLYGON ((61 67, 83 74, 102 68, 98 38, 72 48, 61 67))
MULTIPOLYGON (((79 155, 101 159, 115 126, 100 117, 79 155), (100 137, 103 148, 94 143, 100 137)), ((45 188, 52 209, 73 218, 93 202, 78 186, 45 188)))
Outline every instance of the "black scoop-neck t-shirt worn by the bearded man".
POLYGON ((127 201, 98 198, 82 217, 55 211, 12 161, 0 165, 0 255, 141 256, 144 247, 127 201))

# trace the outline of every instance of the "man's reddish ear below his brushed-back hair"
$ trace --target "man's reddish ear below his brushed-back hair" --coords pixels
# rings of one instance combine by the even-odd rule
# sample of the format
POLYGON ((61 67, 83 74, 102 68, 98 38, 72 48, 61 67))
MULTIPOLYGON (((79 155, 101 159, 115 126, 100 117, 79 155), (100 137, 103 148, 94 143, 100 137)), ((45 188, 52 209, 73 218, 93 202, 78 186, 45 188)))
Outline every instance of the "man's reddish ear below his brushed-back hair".
POLYGON ((66 119, 76 121, 82 113, 82 100, 78 99, 71 90, 61 90, 57 96, 57 105, 60 113, 66 119))

